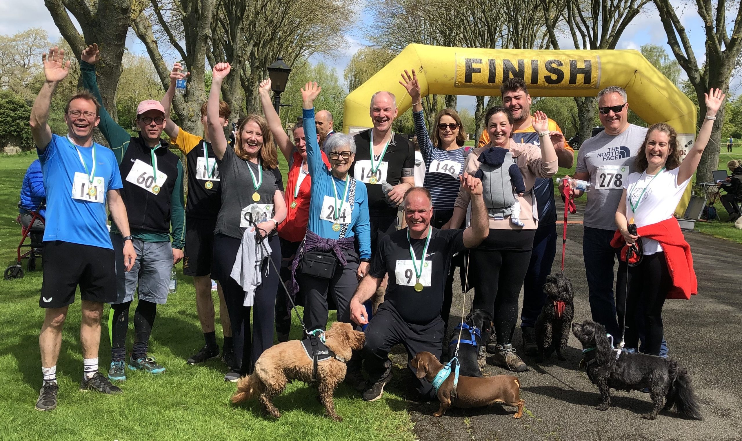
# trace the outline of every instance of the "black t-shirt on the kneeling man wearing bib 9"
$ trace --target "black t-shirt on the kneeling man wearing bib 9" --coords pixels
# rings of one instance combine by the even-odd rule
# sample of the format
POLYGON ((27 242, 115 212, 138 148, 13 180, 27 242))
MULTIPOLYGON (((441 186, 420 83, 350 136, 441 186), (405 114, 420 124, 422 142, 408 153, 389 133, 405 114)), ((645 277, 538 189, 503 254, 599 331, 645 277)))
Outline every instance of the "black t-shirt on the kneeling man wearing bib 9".
MULTIPOLYGON (((422 256, 425 239, 410 241, 419 265, 418 259, 422 256)), ((404 228, 381 239, 371 259, 369 273, 380 279, 388 273, 389 285, 384 302, 390 302, 405 322, 424 325, 441 314, 451 258, 453 254, 463 250, 464 230, 433 228, 420 279, 424 287, 417 292, 414 288, 417 276, 411 265, 410 242, 407 242, 407 228, 404 228)))

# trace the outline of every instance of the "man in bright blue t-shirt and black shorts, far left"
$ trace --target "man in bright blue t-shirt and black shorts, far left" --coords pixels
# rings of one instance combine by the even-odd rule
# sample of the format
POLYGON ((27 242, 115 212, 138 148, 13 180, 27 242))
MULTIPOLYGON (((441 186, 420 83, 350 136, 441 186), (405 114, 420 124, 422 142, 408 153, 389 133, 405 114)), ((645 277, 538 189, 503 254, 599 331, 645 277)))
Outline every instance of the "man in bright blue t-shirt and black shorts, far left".
POLYGON ((42 164, 47 196, 44 233, 44 281, 39 305, 46 308, 39 335, 42 354, 42 389, 36 409, 56 408, 56 360, 62 345, 62 325, 79 286, 82 298, 80 342, 84 374, 81 391, 118 394, 98 372, 100 318, 103 303, 116 299, 114 247, 108 236, 105 202, 124 237, 127 271, 136 253, 131 245, 126 208, 119 194, 122 188, 116 157, 111 150, 93 142, 93 128, 100 121, 99 103, 89 92, 73 95, 65 107, 67 136, 51 133, 47 125, 49 105, 56 84, 65 79, 70 62, 64 50, 54 47, 42 55, 46 81, 31 109, 31 135, 42 164))

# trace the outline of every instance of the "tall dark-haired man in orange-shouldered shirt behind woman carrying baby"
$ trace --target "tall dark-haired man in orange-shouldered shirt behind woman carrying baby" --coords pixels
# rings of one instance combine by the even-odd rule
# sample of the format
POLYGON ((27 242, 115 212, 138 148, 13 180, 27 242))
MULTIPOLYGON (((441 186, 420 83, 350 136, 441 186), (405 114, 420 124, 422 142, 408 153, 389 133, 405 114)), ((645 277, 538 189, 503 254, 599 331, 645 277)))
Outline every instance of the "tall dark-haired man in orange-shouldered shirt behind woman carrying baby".
MULTIPOLYGON (((539 136, 533 129, 531 121, 531 96, 528 95, 528 87, 521 78, 510 78, 500 86, 502 94, 502 105, 510 110, 513 116, 515 142, 539 144, 539 136)), ((562 133, 554 120, 549 119, 549 131, 562 133)), ((563 138, 552 137, 554 148, 557 150, 559 167, 571 168, 574 162, 574 150, 563 138)), ((490 143, 487 130, 482 132, 479 138, 479 147, 490 143)), ((535 356, 537 352, 534 340, 534 327, 541 308, 546 300, 542 287, 546 282, 546 276, 551 273, 551 264, 557 254, 557 207, 554 202, 554 179, 537 178, 533 185, 533 193, 536 195, 536 206, 539 209, 539 227, 533 238, 533 252, 531 263, 528 265, 528 273, 523 283, 523 309, 520 315, 520 327, 523 333, 523 351, 526 355, 535 356)), ((495 342, 487 343, 487 351, 494 353, 495 342)))

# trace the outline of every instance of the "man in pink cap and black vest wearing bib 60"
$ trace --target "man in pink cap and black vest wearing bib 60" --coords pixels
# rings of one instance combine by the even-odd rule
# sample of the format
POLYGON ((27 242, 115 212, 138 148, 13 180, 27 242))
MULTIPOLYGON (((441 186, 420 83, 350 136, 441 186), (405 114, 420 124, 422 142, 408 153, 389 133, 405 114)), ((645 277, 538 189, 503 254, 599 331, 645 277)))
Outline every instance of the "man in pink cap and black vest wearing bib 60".
MULTIPOLYGON (((88 46, 80 62, 82 85, 103 102, 96 82, 94 64, 99 60, 97 44, 88 46)), ((119 162, 124 187, 121 196, 126 205, 131 236, 122 237, 111 227, 111 242, 116 250, 116 282, 118 299, 111 305, 111 368, 108 377, 126 379, 126 331, 129 305, 138 292, 139 302, 134 312, 134 349, 128 366, 151 374, 165 371, 153 357, 147 357, 149 336, 152 332, 157 305, 168 298, 170 274, 183 259, 185 208, 183 202, 183 166, 160 139, 165 127, 165 110, 160 102, 148 99, 137 107, 136 124, 139 136, 130 136, 116 124, 104 107, 100 109, 99 128, 119 162), (171 242, 172 236, 172 242, 171 242), (137 262, 125 273, 122 256, 123 242, 131 239, 137 262)))

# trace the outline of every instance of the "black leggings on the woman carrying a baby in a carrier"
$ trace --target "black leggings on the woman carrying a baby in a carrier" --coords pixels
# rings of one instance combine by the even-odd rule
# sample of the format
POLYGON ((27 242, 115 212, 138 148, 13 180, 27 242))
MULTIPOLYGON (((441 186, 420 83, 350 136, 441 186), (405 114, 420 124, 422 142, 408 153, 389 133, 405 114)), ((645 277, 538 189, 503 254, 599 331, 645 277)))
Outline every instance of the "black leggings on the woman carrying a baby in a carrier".
POLYGON ((508 345, 518 321, 518 296, 531 262, 531 250, 470 251, 469 278, 476 274, 472 309, 492 314, 498 345, 508 345))

